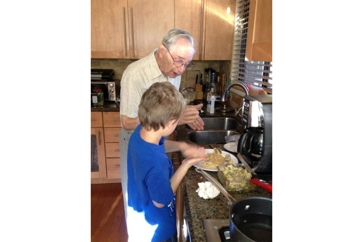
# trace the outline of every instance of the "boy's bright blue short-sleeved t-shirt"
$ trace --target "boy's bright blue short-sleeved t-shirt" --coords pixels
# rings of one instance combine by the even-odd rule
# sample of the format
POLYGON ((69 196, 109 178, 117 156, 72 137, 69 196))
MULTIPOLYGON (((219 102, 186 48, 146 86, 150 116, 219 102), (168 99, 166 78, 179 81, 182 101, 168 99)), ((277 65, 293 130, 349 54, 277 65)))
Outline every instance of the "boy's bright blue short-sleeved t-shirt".
POLYGON ((175 195, 170 184, 174 170, 165 152, 164 138, 159 145, 151 144, 141 138, 140 130, 139 124, 127 150, 128 206, 144 212, 150 225, 157 224, 152 241, 163 241, 176 232, 175 195), (165 206, 157 208, 152 200, 165 206))

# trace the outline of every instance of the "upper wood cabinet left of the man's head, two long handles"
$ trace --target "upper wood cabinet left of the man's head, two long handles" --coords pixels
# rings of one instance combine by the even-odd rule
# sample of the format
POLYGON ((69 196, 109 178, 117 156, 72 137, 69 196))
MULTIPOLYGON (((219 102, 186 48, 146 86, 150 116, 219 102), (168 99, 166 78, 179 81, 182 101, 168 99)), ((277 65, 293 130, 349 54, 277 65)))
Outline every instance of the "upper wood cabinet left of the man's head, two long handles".
POLYGON ((174 28, 174 0, 91 0, 91 58, 140 59, 174 28))

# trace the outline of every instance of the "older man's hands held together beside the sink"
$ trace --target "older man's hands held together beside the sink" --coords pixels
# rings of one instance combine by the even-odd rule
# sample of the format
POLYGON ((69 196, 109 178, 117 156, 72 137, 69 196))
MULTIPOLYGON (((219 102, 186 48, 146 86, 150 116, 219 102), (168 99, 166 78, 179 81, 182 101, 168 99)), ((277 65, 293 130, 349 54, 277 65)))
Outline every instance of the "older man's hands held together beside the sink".
POLYGON ((185 107, 183 115, 181 116, 178 125, 188 124, 193 130, 203 130, 204 122, 199 116, 198 110, 203 107, 203 103, 192 106, 188 105, 185 107))

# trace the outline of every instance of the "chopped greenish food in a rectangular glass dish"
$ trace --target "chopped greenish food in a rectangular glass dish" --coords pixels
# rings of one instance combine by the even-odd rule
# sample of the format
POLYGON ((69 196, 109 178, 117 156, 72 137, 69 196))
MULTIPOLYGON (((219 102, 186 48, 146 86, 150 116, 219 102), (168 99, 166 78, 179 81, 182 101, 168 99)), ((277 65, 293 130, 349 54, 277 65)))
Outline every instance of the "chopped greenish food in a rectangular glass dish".
POLYGON ((256 189, 256 185, 250 183, 252 174, 246 171, 242 164, 219 165, 217 176, 227 191, 256 189))

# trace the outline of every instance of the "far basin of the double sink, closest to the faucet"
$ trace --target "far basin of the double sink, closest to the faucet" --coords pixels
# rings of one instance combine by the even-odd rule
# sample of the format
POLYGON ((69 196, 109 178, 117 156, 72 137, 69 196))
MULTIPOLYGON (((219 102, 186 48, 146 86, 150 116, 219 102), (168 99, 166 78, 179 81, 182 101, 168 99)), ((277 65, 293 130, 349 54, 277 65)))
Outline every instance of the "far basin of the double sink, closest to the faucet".
MULTIPOLYGON (((236 119, 233 118, 202 118, 204 122, 204 130, 236 130, 241 126, 236 119)), ((185 124, 190 129, 190 127, 185 124)))

